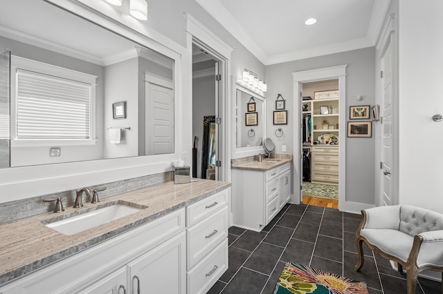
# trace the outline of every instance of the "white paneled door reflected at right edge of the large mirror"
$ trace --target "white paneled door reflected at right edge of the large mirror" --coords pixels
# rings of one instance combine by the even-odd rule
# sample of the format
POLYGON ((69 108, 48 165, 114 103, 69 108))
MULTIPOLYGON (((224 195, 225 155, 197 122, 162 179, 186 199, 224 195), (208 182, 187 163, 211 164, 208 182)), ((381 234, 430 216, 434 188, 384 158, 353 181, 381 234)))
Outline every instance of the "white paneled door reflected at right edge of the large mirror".
POLYGON ((174 153, 172 81, 145 81, 145 154, 174 153))

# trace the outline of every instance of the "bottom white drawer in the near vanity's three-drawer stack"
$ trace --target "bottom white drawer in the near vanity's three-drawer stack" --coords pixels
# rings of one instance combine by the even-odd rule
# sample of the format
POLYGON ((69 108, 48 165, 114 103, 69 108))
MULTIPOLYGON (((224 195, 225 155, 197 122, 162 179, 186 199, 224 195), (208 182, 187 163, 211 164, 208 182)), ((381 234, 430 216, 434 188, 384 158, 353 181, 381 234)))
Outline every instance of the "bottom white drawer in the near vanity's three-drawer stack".
POLYGON ((188 293, 207 293, 228 268, 228 238, 188 272, 188 293))

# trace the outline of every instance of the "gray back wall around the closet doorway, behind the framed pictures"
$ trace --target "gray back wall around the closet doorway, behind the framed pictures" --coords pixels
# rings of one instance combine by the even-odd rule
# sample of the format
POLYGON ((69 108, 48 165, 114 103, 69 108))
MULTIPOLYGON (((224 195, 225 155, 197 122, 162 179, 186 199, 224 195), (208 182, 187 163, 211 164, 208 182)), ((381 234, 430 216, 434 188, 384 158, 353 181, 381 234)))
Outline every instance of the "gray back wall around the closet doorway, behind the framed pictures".
MULTIPOLYGON (((346 77, 346 121, 349 121, 349 107, 356 105, 374 105, 374 48, 352 50, 334 55, 325 55, 287 63, 266 66, 266 133, 275 144, 275 152, 282 153, 282 145, 287 146, 287 153, 293 153, 293 81, 292 72, 312 70, 329 66, 347 64, 346 77), (288 124, 273 125, 273 110, 278 94, 286 99, 288 124), (363 101, 356 101, 362 95, 363 101), (284 136, 275 137, 275 129, 281 127, 284 136)), ((346 200, 363 204, 374 204, 374 137, 344 138, 347 128, 342 128, 340 141, 346 144, 346 200)))

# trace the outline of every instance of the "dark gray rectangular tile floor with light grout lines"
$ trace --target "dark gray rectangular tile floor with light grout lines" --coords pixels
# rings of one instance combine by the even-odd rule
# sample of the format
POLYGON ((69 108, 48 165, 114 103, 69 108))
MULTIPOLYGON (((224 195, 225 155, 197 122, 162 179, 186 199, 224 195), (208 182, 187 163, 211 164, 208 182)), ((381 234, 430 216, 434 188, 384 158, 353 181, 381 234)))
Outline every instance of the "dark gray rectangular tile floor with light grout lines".
MULTIPOLYGON (((354 271, 360 215, 318 206, 291 205, 262 232, 229 229, 229 268, 208 293, 271 294, 285 262, 296 262, 368 284, 369 293, 406 293, 406 275, 365 247, 365 264, 354 271)), ((440 282, 419 278, 417 293, 440 294, 440 282)))

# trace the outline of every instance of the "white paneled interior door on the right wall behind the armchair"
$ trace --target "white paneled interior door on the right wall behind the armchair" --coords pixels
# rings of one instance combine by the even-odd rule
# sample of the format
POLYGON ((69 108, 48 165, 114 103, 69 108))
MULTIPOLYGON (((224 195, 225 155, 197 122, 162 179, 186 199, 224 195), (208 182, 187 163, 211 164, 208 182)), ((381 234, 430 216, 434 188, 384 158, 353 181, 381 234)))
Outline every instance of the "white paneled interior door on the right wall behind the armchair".
POLYGON ((386 50, 381 55, 381 165, 380 165, 380 187, 381 187, 381 204, 383 205, 395 205, 397 199, 395 199, 394 192, 394 172, 393 170, 393 149, 392 148, 392 130, 394 130, 394 105, 393 105, 393 93, 392 93, 392 70, 394 59, 392 57, 392 43, 388 39, 388 43, 385 46, 386 50))

